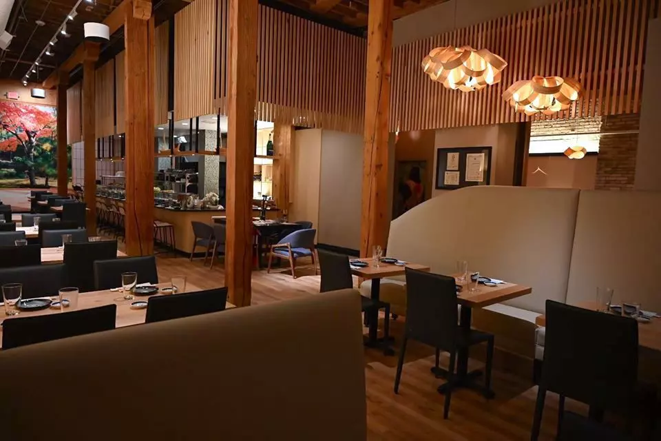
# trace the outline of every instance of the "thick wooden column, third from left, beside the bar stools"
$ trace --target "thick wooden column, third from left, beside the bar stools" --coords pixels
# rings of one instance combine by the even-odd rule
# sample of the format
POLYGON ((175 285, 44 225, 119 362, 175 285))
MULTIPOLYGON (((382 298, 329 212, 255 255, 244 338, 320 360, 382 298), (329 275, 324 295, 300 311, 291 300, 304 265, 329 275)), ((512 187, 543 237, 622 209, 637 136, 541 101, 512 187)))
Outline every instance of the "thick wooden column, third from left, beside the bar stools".
POLYGON ((129 256, 154 254, 154 17, 151 2, 126 8, 125 230, 129 256))

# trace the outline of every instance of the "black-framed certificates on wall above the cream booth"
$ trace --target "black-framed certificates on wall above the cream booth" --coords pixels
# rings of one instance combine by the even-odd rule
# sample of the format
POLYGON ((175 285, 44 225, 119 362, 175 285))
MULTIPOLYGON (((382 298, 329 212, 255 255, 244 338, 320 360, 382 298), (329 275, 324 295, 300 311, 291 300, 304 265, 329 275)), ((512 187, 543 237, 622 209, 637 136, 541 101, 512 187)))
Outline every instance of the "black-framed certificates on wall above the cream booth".
POLYGON ((492 147, 437 149, 436 189, 452 190, 491 181, 492 147))

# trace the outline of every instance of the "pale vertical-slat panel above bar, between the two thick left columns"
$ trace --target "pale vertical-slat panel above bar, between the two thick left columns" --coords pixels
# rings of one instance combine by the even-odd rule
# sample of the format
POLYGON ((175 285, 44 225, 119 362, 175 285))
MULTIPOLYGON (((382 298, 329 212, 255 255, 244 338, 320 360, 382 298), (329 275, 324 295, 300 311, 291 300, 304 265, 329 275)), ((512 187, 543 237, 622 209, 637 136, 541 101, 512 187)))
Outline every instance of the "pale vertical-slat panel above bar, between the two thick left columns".
POLYGON ((174 117, 216 114, 216 1, 196 0, 174 16, 174 117))

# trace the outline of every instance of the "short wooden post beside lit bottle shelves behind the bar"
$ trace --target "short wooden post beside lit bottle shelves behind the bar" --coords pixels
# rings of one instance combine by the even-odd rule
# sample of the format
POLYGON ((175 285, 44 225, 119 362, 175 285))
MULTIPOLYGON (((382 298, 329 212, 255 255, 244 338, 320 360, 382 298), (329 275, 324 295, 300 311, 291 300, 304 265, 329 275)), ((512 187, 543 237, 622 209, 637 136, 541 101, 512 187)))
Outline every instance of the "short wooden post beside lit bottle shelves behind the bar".
POLYGON ((293 152, 294 126, 291 123, 275 122, 273 144, 275 161, 273 161, 273 197, 280 214, 288 214, 289 189, 291 186, 291 154, 293 152))

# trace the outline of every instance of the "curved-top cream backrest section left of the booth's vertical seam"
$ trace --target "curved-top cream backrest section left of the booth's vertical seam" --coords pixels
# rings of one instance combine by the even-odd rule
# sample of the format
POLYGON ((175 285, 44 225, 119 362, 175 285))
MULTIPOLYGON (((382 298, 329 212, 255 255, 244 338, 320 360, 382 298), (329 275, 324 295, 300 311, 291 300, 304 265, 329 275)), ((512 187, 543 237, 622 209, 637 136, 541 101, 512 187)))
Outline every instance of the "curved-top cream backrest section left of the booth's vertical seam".
POLYGON ((533 288, 508 305, 543 312, 565 301, 578 190, 470 187, 430 199, 392 221, 388 255, 454 272, 470 271, 533 288))

